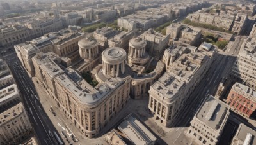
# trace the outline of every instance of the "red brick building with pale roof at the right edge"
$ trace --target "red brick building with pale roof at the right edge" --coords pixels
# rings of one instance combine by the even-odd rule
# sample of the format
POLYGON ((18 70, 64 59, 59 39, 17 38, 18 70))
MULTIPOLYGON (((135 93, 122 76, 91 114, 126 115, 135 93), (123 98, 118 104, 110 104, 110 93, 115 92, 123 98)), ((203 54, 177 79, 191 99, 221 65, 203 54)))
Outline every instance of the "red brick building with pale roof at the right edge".
POLYGON ((256 92, 248 86, 236 83, 228 94, 227 104, 232 111, 249 118, 256 109, 256 92))

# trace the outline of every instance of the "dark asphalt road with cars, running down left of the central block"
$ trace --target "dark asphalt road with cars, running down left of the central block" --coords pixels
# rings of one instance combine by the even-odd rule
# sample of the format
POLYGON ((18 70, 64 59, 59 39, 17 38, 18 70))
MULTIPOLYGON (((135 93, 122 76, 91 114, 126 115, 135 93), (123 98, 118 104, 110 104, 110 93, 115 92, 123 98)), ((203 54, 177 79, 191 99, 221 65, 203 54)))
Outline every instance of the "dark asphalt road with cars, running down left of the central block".
MULTIPOLYGON (((29 118, 41 144, 58 144, 56 139, 49 134, 49 131, 58 132, 49 120, 43 107, 40 104, 38 95, 36 94, 35 88, 28 74, 24 71, 22 65, 16 59, 7 60, 10 70, 12 71, 13 77, 15 78, 17 85, 19 86, 20 95, 24 101, 24 106, 29 113, 29 118), (18 62, 18 63, 17 63, 18 62)), ((60 136, 60 134, 58 134, 60 136)), ((63 141, 62 141, 63 142, 63 141)))

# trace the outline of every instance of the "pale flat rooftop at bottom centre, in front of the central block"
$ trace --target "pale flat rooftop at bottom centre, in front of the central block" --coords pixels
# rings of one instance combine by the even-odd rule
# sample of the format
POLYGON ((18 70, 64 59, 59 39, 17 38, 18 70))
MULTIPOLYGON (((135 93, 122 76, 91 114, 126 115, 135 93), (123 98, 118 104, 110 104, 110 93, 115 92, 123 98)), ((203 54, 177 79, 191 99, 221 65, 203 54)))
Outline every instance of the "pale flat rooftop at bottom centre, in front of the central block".
POLYGON ((157 138, 136 118, 128 116, 123 121, 118 129, 125 134, 125 136, 133 144, 152 144, 157 138))

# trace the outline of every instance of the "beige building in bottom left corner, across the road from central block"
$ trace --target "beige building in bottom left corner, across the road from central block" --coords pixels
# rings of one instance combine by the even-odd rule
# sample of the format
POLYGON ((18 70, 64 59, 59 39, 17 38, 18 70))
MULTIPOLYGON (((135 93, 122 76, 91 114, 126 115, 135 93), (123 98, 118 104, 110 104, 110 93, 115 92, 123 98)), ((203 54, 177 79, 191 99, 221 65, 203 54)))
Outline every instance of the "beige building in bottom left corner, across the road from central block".
POLYGON ((0 113, 0 143, 18 144, 28 137, 32 126, 22 103, 0 113))

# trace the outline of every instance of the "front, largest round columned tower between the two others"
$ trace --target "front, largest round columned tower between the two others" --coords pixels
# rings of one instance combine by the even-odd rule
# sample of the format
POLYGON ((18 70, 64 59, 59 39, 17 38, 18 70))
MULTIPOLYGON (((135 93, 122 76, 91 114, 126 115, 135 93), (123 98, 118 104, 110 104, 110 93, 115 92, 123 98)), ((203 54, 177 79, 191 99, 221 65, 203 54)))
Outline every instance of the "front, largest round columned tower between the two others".
POLYGON ((125 72, 126 52, 122 48, 108 48, 102 52, 103 74, 118 77, 125 72))

